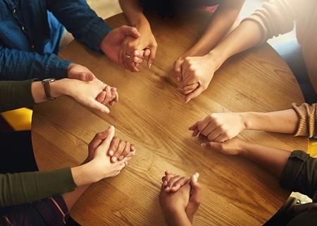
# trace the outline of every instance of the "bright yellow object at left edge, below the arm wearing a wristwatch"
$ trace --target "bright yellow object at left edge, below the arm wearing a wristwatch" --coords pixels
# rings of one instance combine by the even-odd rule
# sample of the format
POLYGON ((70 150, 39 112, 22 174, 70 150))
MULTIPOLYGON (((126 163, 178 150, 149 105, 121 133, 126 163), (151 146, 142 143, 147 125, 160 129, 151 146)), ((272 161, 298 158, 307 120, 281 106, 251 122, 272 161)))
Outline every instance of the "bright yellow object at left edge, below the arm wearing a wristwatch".
POLYGON ((29 108, 19 108, 13 111, 1 113, 6 122, 15 131, 31 130, 33 111, 29 108))

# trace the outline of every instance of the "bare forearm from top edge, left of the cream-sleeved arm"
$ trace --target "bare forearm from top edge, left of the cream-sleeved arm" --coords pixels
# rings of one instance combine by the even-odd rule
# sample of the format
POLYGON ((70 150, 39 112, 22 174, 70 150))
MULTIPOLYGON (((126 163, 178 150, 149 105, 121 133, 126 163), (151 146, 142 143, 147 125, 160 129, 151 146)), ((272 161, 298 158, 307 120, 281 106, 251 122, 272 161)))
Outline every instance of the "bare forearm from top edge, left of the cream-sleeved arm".
POLYGON ((237 19, 244 0, 239 1, 222 1, 209 25, 206 27, 204 34, 188 51, 188 56, 204 56, 222 39, 230 30, 237 19))

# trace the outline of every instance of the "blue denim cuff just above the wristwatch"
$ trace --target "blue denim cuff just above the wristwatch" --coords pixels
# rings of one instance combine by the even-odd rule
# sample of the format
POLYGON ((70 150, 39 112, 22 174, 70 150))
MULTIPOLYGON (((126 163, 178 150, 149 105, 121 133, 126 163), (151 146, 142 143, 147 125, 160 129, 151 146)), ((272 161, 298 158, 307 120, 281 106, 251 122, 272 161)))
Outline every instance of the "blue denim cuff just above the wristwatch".
POLYGON ((67 77, 68 66, 70 61, 62 60, 55 54, 51 54, 49 61, 45 68, 45 77, 54 77, 56 79, 62 79, 67 77))

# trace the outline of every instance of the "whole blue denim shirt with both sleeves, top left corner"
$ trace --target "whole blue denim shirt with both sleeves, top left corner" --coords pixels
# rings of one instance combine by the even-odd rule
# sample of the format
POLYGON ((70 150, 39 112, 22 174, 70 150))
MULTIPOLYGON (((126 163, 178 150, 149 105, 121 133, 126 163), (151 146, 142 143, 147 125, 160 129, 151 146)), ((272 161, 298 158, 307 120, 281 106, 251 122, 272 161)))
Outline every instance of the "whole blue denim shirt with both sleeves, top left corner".
POLYGON ((85 0, 0 0, 0 80, 67 77, 63 26, 93 51, 111 31, 85 0))

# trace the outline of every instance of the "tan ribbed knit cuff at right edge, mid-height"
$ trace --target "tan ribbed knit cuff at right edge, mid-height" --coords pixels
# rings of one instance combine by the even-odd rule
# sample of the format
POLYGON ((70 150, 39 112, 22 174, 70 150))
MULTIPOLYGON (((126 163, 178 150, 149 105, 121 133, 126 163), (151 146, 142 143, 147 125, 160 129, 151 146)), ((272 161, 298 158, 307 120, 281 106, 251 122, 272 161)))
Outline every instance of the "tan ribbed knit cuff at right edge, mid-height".
POLYGON ((294 136, 317 137, 317 103, 313 103, 312 105, 308 103, 303 103, 302 105, 293 103, 292 107, 299 116, 299 125, 294 136))

